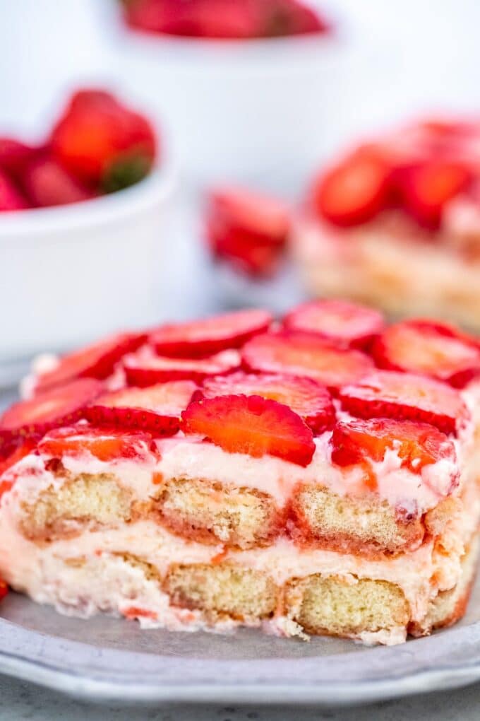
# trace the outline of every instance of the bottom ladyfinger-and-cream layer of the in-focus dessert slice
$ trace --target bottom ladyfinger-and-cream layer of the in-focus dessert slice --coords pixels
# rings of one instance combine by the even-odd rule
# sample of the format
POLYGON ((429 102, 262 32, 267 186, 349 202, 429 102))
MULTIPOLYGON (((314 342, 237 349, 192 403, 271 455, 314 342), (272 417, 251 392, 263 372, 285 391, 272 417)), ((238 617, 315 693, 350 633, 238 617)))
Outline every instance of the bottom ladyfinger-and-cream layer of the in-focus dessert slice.
MULTIPOLYGON (((107 612, 171 630, 239 625, 286 636, 330 634, 394 644, 455 622, 474 578, 478 534, 458 533, 409 554, 368 560, 271 547, 225 552, 153 521, 35 543, 1 534, 6 580, 63 614, 107 612)), ((11 529, 13 531, 13 529, 11 529)))

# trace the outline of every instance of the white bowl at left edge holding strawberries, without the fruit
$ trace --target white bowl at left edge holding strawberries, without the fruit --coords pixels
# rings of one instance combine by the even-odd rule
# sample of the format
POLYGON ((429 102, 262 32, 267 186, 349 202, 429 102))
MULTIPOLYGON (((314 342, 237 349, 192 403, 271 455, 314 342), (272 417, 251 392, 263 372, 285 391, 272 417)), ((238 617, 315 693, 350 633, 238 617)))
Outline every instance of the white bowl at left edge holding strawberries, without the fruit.
POLYGON ((101 198, 0 213, 0 359, 62 350, 160 317, 171 164, 101 198))

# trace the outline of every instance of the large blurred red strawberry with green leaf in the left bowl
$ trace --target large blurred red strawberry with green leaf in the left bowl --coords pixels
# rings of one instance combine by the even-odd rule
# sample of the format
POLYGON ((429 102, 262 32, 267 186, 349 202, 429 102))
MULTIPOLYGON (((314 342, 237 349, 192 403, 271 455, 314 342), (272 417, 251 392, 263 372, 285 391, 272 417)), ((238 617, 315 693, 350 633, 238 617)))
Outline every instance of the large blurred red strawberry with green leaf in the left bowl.
POLYGON ((99 90, 73 95, 53 128, 50 146, 71 174, 107 193, 142 180, 156 151, 148 120, 99 90))

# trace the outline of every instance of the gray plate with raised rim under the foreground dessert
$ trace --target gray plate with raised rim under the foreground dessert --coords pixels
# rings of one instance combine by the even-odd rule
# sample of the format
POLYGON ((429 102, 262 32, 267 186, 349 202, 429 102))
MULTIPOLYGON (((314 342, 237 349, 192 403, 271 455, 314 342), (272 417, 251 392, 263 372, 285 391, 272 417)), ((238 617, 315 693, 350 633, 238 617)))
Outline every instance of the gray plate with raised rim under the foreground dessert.
POLYGON ((14 593, 0 614, 1 673, 95 701, 340 705, 480 680, 480 583, 461 624, 396 647, 246 629, 141 631, 121 619, 59 616, 14 593))

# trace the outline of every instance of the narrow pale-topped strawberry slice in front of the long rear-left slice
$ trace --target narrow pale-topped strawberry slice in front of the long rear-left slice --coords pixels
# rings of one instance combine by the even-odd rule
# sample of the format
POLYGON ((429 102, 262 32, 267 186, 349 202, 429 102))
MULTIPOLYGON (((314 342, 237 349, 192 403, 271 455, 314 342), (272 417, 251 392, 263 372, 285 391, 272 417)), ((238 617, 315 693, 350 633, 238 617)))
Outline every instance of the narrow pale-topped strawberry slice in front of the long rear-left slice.
POLYGON ((190 379, 199 383, 209 376, 230 373, 240 366, 236 350, 224 350, 209 358, 168 358, 148 353, 124 358, 124 371, 129 386, 153 386, 166 381, 190 379))

